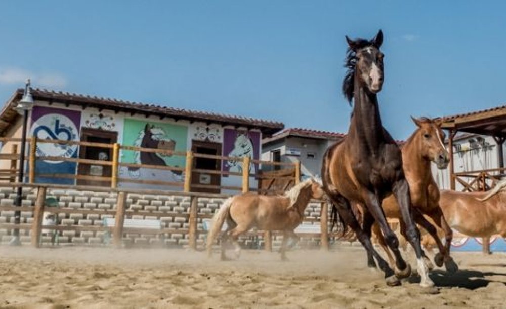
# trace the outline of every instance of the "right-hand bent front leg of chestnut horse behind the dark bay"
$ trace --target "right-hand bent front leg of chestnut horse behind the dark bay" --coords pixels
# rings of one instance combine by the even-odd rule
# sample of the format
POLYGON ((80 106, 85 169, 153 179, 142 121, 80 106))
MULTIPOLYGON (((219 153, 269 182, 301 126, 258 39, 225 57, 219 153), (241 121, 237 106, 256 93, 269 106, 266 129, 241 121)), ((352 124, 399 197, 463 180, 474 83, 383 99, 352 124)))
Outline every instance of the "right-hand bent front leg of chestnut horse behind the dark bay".
MULTIPOLYGON (((436 265, 441 267, 444 263, 446 271, 450 274, 453 274, 458 271, 458 265, 455 263, 453 258, 450 256, 450 246, 451 241, 453 240, 453 230, 446 222, 446 219, 443 216, 443 211, 441 211, 440 207, 436 207, 428 214, 434 222, 444 231, 445 236, 445 244, 444 247, 439 247, 439 253, 434 257, 434 262, 436 265)), ((432 234, 431 234, 432 235, 432 234)), ((432 236, 436 243, 438 243, 439 236, 432 236)), ((439 243, 438 243, 439 246, 439 243)))

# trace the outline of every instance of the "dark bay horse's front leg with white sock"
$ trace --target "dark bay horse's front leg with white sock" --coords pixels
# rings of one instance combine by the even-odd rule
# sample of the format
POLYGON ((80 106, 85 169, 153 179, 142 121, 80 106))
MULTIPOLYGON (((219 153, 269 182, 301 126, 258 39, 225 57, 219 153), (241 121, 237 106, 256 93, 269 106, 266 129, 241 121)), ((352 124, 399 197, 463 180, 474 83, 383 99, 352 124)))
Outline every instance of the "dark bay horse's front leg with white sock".
MULTIPOLYGON (((421 276, 420 286, 432 287, 434 286, 434 282, 432 282, 432 280, 429 278, 429 270, 422 258, 423 253, 420 244, 420 231, 414 223, 411 196, 409 194, 409 185, 406 179, 398 180, 394 184, 392 191, 397 199, 397 203, 399 204, 402 221, 404 224, 406 224, 406 239, 415 250, 418 274, 421 276)), ((399 250, 397 250, 397 252, 399 252, 399 250)))

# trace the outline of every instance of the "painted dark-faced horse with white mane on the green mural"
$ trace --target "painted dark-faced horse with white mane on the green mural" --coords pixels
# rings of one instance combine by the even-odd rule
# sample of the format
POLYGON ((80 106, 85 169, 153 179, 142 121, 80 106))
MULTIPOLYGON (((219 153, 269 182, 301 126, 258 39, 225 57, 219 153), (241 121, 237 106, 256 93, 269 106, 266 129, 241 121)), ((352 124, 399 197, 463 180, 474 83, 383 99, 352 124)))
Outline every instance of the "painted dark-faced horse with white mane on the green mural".
MULTIPOLYGON (((146 124, 144 130, 139 132, 139 136, 134 141, 134 147, 173 151, 176 147, 176 142, 168 138, 167 133, 163 129, 151 124, 146 124)), ((171 156, 172 155, 163 153, 135 151, 134 163, 168 166, 164 158, 171 156)), ((169 179, 174 181, 182 181, 183 174, 181 171, 157 170, 130 166, 128 167, 128 172, 130 177, 137 179, 169 179)))

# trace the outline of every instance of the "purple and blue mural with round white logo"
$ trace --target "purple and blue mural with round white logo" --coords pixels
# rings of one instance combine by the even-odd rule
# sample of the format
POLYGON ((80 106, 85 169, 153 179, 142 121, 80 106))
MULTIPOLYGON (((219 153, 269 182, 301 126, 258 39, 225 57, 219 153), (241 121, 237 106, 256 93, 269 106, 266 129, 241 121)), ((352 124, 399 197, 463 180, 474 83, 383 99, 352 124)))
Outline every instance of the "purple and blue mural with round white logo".
MULTIPOLYGON (((31 114, 30 136, 42 140, 79 141, 81 113, 78 110, 34 106, 31 114)), ((77 158, 78 146, 37 143, 38 156, 77 158)), ((35 174, 75 174, 75 162, 37 160, 35 174)), ((74 184, 74 179, 36 177, 36 182, 74 184)))

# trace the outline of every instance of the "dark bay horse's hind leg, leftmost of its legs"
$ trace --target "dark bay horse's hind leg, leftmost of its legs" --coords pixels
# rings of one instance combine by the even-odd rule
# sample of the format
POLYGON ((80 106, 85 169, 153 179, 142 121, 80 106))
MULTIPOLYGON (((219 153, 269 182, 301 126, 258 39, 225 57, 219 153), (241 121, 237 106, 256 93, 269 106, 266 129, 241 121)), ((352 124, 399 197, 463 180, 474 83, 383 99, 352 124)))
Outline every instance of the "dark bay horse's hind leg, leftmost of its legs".
POLYGON ((383 271, 385 274, 385 282, 389 286, 397 286, 400 285, 401 282, 395 276, 394 271, 392 268, 389 267, 388 263, 377 253, 377 251, 374 249, 374 246, 371 243, 370 237, 367 237, 364 230, 360 227, 360 224, 357 221, 357 218, 355 217, 355 214, 353 213, 351 209, 351 205, 344 197, 340 195, 333 195, 333 200, 335 202, 335 205, 337 205, 336 209, 339 212, 339 215, 343 219, 344 222, 348 226, 350 226, 351 229, 355 232, 357 235, 358 241, 362 244, 362 246, 365 248, 367 253, 371 252, 371 254, 374 256, 376 261, 378 262, 379 269, 383 271))

